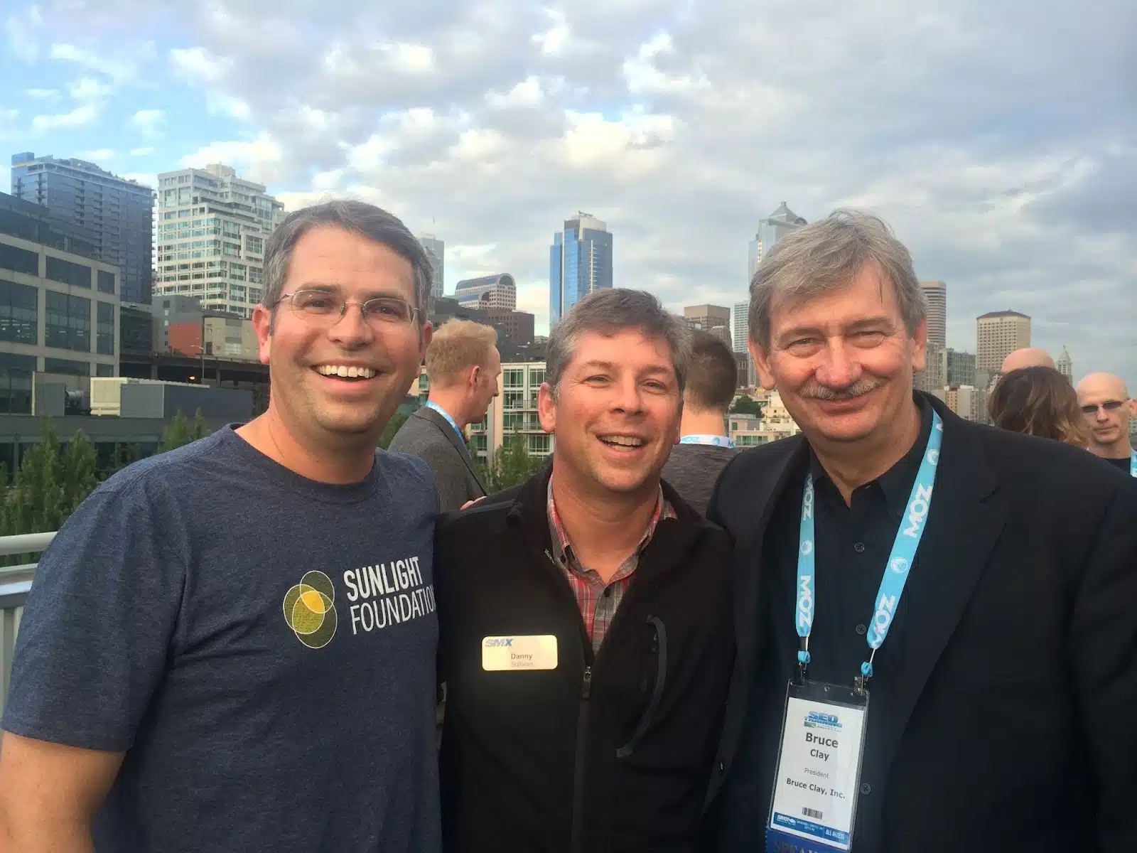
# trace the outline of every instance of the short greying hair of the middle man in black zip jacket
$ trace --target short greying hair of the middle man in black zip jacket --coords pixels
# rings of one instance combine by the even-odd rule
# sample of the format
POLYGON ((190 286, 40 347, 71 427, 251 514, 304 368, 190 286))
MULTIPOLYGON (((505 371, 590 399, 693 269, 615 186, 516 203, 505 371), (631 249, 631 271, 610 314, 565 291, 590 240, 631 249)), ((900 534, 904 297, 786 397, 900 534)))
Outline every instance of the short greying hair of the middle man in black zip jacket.
POLYGON ((675 379, 679 381, 679 392, 682 394, 691 361, 687 325, 645 290, 604 288, 576 303, 549 334, 545 381, 553 389, 553 398, 556 399, 561 391, 561 380, 581 334, 598 332, 611 336, 629 329, 666 341, 675 379))

